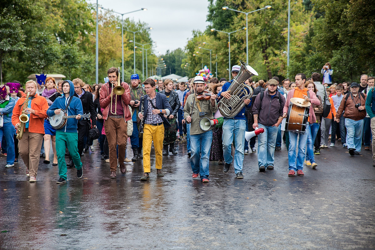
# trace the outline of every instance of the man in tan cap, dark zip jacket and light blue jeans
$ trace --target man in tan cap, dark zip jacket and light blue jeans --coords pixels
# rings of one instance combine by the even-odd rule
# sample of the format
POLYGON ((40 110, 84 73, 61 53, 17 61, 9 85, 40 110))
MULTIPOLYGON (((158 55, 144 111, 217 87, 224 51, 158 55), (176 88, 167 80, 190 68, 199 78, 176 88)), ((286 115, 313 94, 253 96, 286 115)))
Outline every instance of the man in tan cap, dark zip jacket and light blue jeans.
POLYGON ((253 104, 253 128, 263 128, 264 133, 258 135, 258 166, 259 171, 273 169, 276 136, 282 121, 285 97, 277 91, 278 81, 270 79, 268 90, 264 90, 255 98, 253 104))

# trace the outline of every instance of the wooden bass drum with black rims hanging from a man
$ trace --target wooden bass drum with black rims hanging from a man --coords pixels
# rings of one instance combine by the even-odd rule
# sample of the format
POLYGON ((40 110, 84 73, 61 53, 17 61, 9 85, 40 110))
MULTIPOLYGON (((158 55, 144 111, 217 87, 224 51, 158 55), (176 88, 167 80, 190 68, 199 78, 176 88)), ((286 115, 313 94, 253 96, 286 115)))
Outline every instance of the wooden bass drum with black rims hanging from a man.
POLYGON ((307 131, 307 126, 309 126, 309 109, 310 107, 301 107, 290 103, 285 122, 285 131, 302 133, 304 135, 307 131))

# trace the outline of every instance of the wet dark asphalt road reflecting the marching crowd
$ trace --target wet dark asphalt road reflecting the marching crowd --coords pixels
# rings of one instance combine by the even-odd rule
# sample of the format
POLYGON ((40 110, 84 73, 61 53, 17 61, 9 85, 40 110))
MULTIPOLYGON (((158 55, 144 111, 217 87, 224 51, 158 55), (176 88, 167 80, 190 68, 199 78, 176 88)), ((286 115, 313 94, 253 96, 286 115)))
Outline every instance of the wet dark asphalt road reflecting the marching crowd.
POLYGON ((186 142, 177 156, 163 156, 165 177, 152 169, 146 182, 142 161, 108 178, 96 144, 82 157, 84 179, 68 169, 66 184, 56 184, 57 166, 43 159, 36 183, 22 160, 0 168, 0 249, 375 249, 371 151, 324 149, 317 169, 288 177, 283 144, 275 170, 258 172, 257 154, 249 154, 244 179, 233 165, 223 174, 210 162, 203 184, 191 178, 186 142))

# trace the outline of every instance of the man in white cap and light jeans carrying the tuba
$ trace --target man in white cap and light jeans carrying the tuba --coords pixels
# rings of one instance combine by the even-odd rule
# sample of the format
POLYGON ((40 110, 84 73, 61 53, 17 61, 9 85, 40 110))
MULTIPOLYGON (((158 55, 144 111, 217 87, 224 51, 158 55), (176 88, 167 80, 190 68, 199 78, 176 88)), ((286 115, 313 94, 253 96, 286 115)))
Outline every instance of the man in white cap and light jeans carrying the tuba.
MULTIPOLYGON (((232 76, 235 78, 240 71, 239 65, 234 65, 232 67, 232 76)), ((228 88, 232 84, 233 79, 231 82, 225 82, 223 88, 217 96, 225 97, 227 99, 231 98, 231 93, 229 93, 228 88)), ((245 99, 243 100, 245 106, 247 108, 251 107, 251 100, 245 99)), ((224 154, 224 167, 223 172, 227 173, 233 161, 233 156, 231 155, 232 151, 232 142, 234 136, 234 173, 236 174, 237 178, 243 178, 242 174, 242 164, 243 164, 243 145, 245 143, 245 130, 246 130, 246 118, 245 118, 245 106, 233 117, 228 118, 224 115, 224 123, 223 123, 223 154, 224 154)))

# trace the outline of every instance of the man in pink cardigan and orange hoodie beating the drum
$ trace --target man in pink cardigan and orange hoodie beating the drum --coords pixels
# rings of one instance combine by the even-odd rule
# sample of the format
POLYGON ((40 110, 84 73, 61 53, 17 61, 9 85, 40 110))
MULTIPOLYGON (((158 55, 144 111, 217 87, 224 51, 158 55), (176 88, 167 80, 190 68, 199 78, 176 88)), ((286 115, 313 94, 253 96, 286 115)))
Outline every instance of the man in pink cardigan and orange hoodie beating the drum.
MULTIPOLYGON (((304 103, 310 102, 314 105, 319 105, 320 100, 317 98, 317 95, 312 90, 305 88, 306 75, 303 73, 298 73, 296 75, 296 85, 297 87, 288 92, 287 100, 284 105, 284 114, 283 117, 287 117, 288 109, 290 108, 291 98, 297 97, 302 100, 304 103)), ((306 106, 307 107, 307 106, 306 106)), ((301 114, 302 116, 303 114, 301 114)), ((288 120, 288 119, 287 119, 288 120)), ((317 119, 315 118, 314 109, 312 105, 309 105, 309 117, 308 123, 315 123, 317 119)), ((308 124, 307 124, 308 125, 308 124)), ((289 131, 289 129, 288 129, 289 131)), ((302 172, 303 161, 306 156, 306 142, 307 142, 308 133, 304 131, 289 131, 289 141, 290 146, 288 150, 288 162, 289 162, 289 173, 288 176, 292 177, 297 171, 297 175, 304 175, 302 172), (296 148, 298 141, 298 155, 296 157, 296 148), (297 163, 296 163, 297 160, 297 163)))

